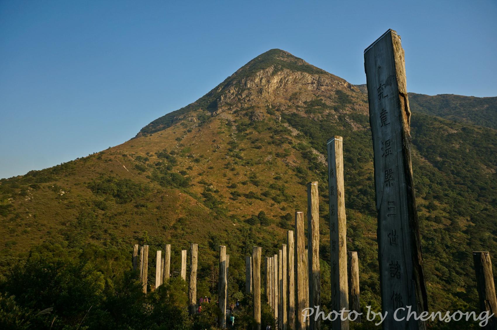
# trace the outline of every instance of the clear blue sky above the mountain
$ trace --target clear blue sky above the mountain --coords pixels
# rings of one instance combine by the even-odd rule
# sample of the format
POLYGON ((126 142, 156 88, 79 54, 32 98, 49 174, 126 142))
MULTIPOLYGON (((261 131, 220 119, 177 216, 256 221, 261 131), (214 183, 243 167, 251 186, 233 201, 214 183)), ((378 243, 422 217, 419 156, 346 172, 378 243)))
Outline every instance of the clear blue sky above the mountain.
POLYGON ((0 0, 0 178, 120 144, 271 48, 365 83, 388 28, 409 91, 497 96, 496 0, 0 0))

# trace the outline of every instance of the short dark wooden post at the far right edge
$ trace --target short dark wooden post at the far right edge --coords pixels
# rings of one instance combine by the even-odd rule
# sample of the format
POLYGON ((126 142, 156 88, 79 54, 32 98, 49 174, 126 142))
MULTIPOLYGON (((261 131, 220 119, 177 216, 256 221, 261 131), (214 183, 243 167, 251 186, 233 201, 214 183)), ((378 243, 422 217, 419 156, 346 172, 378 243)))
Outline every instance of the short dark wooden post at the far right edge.
POLYGON ((497 330, 497 299, 490 253, 488 251, 473 252, 473 262, 475 264, 480 310, 494 314, 485 329, 497 330))

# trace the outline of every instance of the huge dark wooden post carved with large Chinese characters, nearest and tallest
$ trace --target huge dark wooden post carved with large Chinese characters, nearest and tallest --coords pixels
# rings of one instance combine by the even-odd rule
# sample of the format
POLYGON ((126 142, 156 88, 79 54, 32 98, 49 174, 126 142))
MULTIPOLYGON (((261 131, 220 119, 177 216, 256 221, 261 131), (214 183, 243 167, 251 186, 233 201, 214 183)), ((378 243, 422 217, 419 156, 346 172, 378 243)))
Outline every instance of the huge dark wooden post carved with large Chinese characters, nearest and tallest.
MULTIPOLYGON (((422 321, 394 320, 399 308, 428 310, 411 166, 411 111, 404 50, 388 30, 364 51, 373 137, 378 261, 383 329, 425 329, 422 321)), ((407 311, 397 313, 406 318, 407 311)))

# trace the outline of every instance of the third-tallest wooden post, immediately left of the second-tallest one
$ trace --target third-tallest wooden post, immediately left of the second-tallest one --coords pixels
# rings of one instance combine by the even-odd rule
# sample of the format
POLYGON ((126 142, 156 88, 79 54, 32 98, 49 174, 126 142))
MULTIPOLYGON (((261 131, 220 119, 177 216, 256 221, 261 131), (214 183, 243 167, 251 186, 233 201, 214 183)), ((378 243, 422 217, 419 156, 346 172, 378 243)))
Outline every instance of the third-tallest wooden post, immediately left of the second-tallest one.
MULTIPOLYGON (((319 265, 319 193, 318 182, 307 184, 307 232, 309 235, 309 304, 316 308, 321 306, 321 273, 319 265)), ((347 268, 345 268, 346 270, 347 268)), ((311 330, 321 329, 321 318, 314 317, 310 323, 311 330)))

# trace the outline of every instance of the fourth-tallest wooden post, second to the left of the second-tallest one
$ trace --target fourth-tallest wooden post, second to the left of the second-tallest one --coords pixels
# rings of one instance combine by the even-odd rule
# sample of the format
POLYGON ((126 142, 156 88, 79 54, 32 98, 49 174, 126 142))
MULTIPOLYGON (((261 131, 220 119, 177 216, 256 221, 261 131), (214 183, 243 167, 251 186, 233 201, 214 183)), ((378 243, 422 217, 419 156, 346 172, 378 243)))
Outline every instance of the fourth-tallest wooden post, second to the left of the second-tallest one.
POLYGON ((306 260, 307 254, 305 250, 305 235, 304 235, 304 213, 295 212, 295 267, 296 267, 296 282, 297 282, 297 330, 306 329, 302 311, 307 308, 306 298, 306 260))

